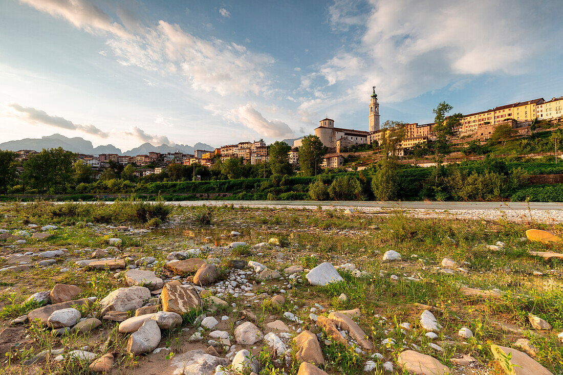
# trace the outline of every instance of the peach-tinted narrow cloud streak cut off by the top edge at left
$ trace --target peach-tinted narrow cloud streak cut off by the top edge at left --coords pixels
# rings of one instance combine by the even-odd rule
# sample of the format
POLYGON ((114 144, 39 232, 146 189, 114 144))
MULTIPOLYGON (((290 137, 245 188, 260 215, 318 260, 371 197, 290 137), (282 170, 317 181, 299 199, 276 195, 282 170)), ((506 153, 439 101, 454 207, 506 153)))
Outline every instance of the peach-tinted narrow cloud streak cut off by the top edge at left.
POLYGON ((29 6, 55 17, 62 17, 88 33, 109 32, 122 38, 132 35, 122 25, 88 0, 20 0, 29 6))

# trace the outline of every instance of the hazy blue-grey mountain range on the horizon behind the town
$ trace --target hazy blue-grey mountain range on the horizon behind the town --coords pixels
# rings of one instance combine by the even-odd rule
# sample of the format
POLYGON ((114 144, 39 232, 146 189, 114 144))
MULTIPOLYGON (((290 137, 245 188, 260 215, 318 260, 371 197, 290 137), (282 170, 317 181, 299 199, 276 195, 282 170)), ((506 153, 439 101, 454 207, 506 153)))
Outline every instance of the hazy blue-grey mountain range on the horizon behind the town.
POLYGON ((204 143, 196 143, 193 146, 189 145, 172 145, 166 144, 160 146, 153 146, 146 142, 134 149, 122 152, 114 145, 105 145, 94 147, 92 142, 85 140, 81 137, 68 138, 60 134, 53 134, 51 136, 44 136, 41 138, 25 138, 16 141, 7 141, 0 143, 0 150, 35 150, 41 151, 42 149, 51 149, 62 147, 67 151, 79 154, 99 155, 99 154, 118 154, 118 155, 144 155, 150 151, 166 154, 168 152, 180 151, 184 154, 193 154, 194 150, 215 150, 214 147, 204 143))

